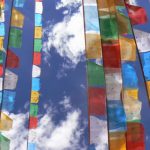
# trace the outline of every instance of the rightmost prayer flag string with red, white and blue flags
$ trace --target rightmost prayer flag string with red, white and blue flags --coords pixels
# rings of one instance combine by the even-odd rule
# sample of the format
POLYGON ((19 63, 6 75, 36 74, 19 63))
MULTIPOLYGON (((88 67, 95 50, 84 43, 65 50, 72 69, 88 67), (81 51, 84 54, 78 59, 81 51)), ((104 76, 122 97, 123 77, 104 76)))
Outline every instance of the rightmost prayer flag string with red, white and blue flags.
POLYGON ((135 6, 131 3, 131 1, 126 1, 126 8, 128 10, 128 14, 131 20, 131 24, 133 25, 133 32, 135 35, 135 40, 137 43, 137 48, 140 53, 140 61, 142 63, 142 69, 144 73, 145 84, 147 87, 148 98, 150 99, 150 91, 147 82, 150 79, 149 73, 149 30, 147 30, 147 26, 149 26, 148 16, 146 13, 146 8, 135 6), (136 29, 135 25, 139 25, 140 29, 136 29))

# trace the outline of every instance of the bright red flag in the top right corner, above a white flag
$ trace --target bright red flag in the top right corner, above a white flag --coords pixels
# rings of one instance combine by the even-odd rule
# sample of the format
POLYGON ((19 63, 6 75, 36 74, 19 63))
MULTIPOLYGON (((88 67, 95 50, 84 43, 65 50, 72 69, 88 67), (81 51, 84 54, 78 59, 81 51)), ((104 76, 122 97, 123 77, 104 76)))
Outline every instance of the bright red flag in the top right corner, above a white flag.
POLYGON ((126 4, 131 23, 133 25, 144 24, 148 21, 146 10, 143 7, 126 4))

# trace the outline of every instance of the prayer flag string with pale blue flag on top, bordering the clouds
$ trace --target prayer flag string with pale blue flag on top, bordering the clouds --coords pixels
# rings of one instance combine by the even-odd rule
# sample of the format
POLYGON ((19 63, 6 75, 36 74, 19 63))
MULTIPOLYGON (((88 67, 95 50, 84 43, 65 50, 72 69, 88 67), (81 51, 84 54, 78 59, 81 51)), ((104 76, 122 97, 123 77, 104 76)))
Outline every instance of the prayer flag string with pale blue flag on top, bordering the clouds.
POLYGON ((88 79, 89 147, 108 149, 106 88, 96 0, 84 1, 85 47, 88 79), (102 138, 103 137, 103 138, 102 138))

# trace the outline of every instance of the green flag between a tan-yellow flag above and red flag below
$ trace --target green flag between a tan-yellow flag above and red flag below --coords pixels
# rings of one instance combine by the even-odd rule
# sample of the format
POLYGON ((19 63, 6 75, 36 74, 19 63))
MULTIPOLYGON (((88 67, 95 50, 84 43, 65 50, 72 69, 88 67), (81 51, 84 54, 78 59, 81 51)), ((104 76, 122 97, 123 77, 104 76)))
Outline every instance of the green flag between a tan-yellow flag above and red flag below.
POLYGON ((89 86, 104 86, 103 67, 93 62, 87 62, 88 84, 89 86))

